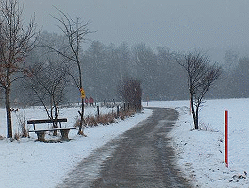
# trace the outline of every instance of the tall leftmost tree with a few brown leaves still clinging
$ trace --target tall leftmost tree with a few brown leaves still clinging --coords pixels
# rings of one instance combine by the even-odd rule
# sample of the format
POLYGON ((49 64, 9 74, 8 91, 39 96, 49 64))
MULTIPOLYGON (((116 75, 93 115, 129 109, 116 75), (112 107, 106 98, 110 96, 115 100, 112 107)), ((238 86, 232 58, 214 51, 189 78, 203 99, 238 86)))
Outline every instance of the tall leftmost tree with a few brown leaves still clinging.
POLYGON ((35 22, 31 18, 27 27, 22 23, 23 9, 18 0, 0 2, 0 85, 5 90, 8 138, 12 138, 10 91, 18 73, 24 70, 24 58, 33 47, 35 22))

